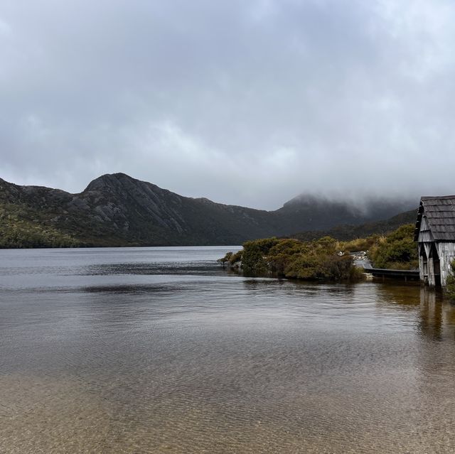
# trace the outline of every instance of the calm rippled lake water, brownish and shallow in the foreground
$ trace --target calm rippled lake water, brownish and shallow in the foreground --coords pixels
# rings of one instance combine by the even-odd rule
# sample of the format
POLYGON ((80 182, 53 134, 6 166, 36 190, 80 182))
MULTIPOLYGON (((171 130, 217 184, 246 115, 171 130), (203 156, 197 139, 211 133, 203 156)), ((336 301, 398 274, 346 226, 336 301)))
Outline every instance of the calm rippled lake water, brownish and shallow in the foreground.
POLYGON ((0 453, 452 453, 455 308, 235 247, 0 251, 0 453))

